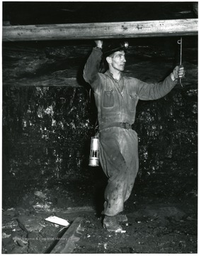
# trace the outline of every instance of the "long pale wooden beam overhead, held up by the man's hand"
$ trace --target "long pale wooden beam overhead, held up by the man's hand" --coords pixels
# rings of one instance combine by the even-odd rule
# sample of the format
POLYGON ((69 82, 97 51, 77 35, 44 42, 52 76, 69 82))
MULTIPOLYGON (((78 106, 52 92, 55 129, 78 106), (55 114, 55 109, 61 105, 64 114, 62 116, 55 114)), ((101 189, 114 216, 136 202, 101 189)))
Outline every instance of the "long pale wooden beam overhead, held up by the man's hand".
POLYGON ((161 21, 3 26, 2 40, 84 40, 98 38, 194 36, 197 34, 198 18, 186 18, 161 21))

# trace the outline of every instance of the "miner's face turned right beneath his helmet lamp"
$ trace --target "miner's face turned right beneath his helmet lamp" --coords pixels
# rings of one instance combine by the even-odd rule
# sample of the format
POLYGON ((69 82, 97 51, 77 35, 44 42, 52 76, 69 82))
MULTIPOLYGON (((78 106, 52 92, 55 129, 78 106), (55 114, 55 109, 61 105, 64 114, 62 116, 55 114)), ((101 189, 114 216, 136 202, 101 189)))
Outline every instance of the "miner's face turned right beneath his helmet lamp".
POLYGON ((111 68, 115 70, 123 71, 125 69, 126 59, 125 52, 123 50, 118 50, 117 52, 108 56, 106 60, 111 68))

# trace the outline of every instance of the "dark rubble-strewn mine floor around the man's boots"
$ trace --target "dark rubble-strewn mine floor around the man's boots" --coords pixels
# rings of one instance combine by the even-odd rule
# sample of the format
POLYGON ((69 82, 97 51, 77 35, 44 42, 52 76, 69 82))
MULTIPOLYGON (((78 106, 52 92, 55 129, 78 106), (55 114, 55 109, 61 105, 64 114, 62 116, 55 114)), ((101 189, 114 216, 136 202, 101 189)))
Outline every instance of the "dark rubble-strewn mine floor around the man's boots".
POLYGON ((194 189, 186 191, 181 185, 174 187, 172 183, 164 185, 152 180, 141 183, 138 179, 125 204, 128 218, 128 223, 123 223, 125 233, 115 234, 108 233, 101 225, 103 182, 99 179, 91 183, 88 179, 59 182, 50 188, 28 188, 13 206, 4 206, 2 253, 50 253, 55 248, 62 253, 66 244, 66 252, 75 254, 197 253, 194 189), (64 227, 45 220, 52 215, 68 220, 71 228, 79 220, 72 231, 65 228, 69 240, 64 243, 65 236, 61 236, 62 245, 59 234, 64 227))

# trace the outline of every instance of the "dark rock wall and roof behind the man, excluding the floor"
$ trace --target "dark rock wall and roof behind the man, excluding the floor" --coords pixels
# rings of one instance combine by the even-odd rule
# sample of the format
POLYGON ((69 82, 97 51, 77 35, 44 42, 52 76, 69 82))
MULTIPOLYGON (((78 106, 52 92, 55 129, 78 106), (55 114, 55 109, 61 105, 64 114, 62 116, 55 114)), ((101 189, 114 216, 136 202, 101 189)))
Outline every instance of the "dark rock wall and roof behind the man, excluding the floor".
MULTIPOLYGON (((159 19, 160 10, 162 18, 195 18, 193 6, 187 3, 152 3, 148 7, 141 3, 123 6, 116 3, 68 3, 64 6, 59 3, 56 6, 55 3, 49 3, 47 7, 5 2, 5 25, 150 20, 159 19), (95 15, 93 11, 104 9, 104 5, 120 10, 114 13, 118 16, 108 16, 110 12, 106 11, 103 17, 95 15), (169 11, 171 7, 172 13, 169 11), (20 11, 24 14, 29 9, 33 10, 28 12, 31 15, 23 16, 22 20, 20 11), (148 9, 153 10, 153 17, 149 16, 148 9), (45 15, 38 15, 38 10, 45 15), (55 16, 51 15, 52 10, 55 16), (88 13, 92 15, 88 16, 88 13)), ((147 82, 163 79, 179 63, 178 39, 130 39, 125 73, 147 82)), ((90 86, 82 77, 92 47, 93 41, 3 43, 4 195, 13 191, 19 193, 29 186, 49 186, 63 179, 93 177, 88 162, 90 139, 95 133, 96 108, 93 95, 89 93, 90 86)), ((156 180, 160 174, 167 178, 171 175, 179 183, 182 181, 176 177, 194 179, 197 174, 197 56, 197 38, 183 38, 183 65, 186 68, 183 87, 178 84, 166 97, 151 102, 140 101, 137 105, 138 178, 156 180)), ((3 202, 15 201, 15 196, 13 193, 3 202)))

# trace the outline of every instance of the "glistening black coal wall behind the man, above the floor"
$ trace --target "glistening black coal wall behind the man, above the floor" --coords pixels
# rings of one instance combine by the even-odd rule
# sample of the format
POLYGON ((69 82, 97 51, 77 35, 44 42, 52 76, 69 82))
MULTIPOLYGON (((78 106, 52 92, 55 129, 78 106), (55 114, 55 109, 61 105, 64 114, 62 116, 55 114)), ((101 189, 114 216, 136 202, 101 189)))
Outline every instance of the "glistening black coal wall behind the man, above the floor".
MULTIPOLYGON (((4 196, 15 188, 16 191, 18 189, 24 191, 29 186, 50 186, 57 181, 84 180, 93 177, 96 169, 89 167, 88 163, 90 139, 95 133, 96 109, 93 97, 89 95, 89 86, 86 84, 62 86, 56 85, 56 82, 51 86, 52 73, 54 77, 60 77, 63 73, 65 75, 67 65, 65 64, 60 71, 60 66, 54 65, 56 63, 52 60, 52 51, 49 48, 41 51, 42 54, 30 49, 26 50, 20 58, 16 58, 16 55, 19 55, 16 49, 15 55, 11 48, 7 50, 11 54, 8 58, 7 51, 4 50, 6 55, 2 104, 4 196), (31 67, 30 61, 28 65, 27 62, 25 63, 28 55, 32 64, 34 63, 31 67), (42 66, 40 73, 37 73, 38 63, 42 66), (48 64, 47 68, 43 68, 46 64, 48 64), (57 70, 52 70, 52 66, 56 66, 57 70), (49 69, 48 75, 46 70, 49 69), (40 80, 42 80, 41 75, 45 74, 45 86, 42 82, 40 85, 40 81, 34 86, 31 85, 34 72, 37 73, 35 75, 37 78, 38 74, 40 75, 40 80), (49 86, 46 85, 47 79, 50 80, 49 86), (6 84, 8 80, 9 85, 6 84)), ((67 52, 68 55, 61 54, 62 50, 59 50, 59 58, 56 61, 64 63, 66 58, 70 60, 70 71, 67 72, 74 75, 71 66, 74 59, 69 58, 67 49, 64 53, 67 52)), ((74 54, 74 50, 71 52, 74 54)), ((55 57, 57 52, 54 50, 53 53, 55 57)), ((89 53, 89 50, 86 53, 89 53)), ((149 51, 146 53, 146 47, 142 48, 142 52, 137 51, 138 57, 134 59, 137 63, 132 66, 137 78, 141 79, 143 73, 147 73, 144 80, 150 80, 153 76, 159 79, 162 76, 159 70, 154 68, 152 51, 150 53, 151 55, 149 51), (143 59, 143 52, 147 61, 143 59), (148 70, 143 71, 143 65, 146 65, 148 70), (142 73, 136 72, 139 69, 142 73)), ((85 60, 85 55, 81 56, 80 61, 78 60, 79 65, 83 65, 85 60)), ((164 58, 159 60, 160 63, 164 61, 164 58)), ((168 70, 167 65, 170 64, 167 60, 164 70, 168 70)), ((178 84, 166 97, 155 101, 140 101, 137 105, 135 130, 139 137, 140 153, 140 171, 137 178, 156 182, 165 180, 183 186, 184 181, 189 182, 190 179, 191 189, 196 189, 198 89, 195 70, 197 65, 187 61, 185 66, 188 70, 188 78, 184 78, 183 87, 178 84)), ((127 71, 130 68, 131 66, 127 66, 127 71)))

